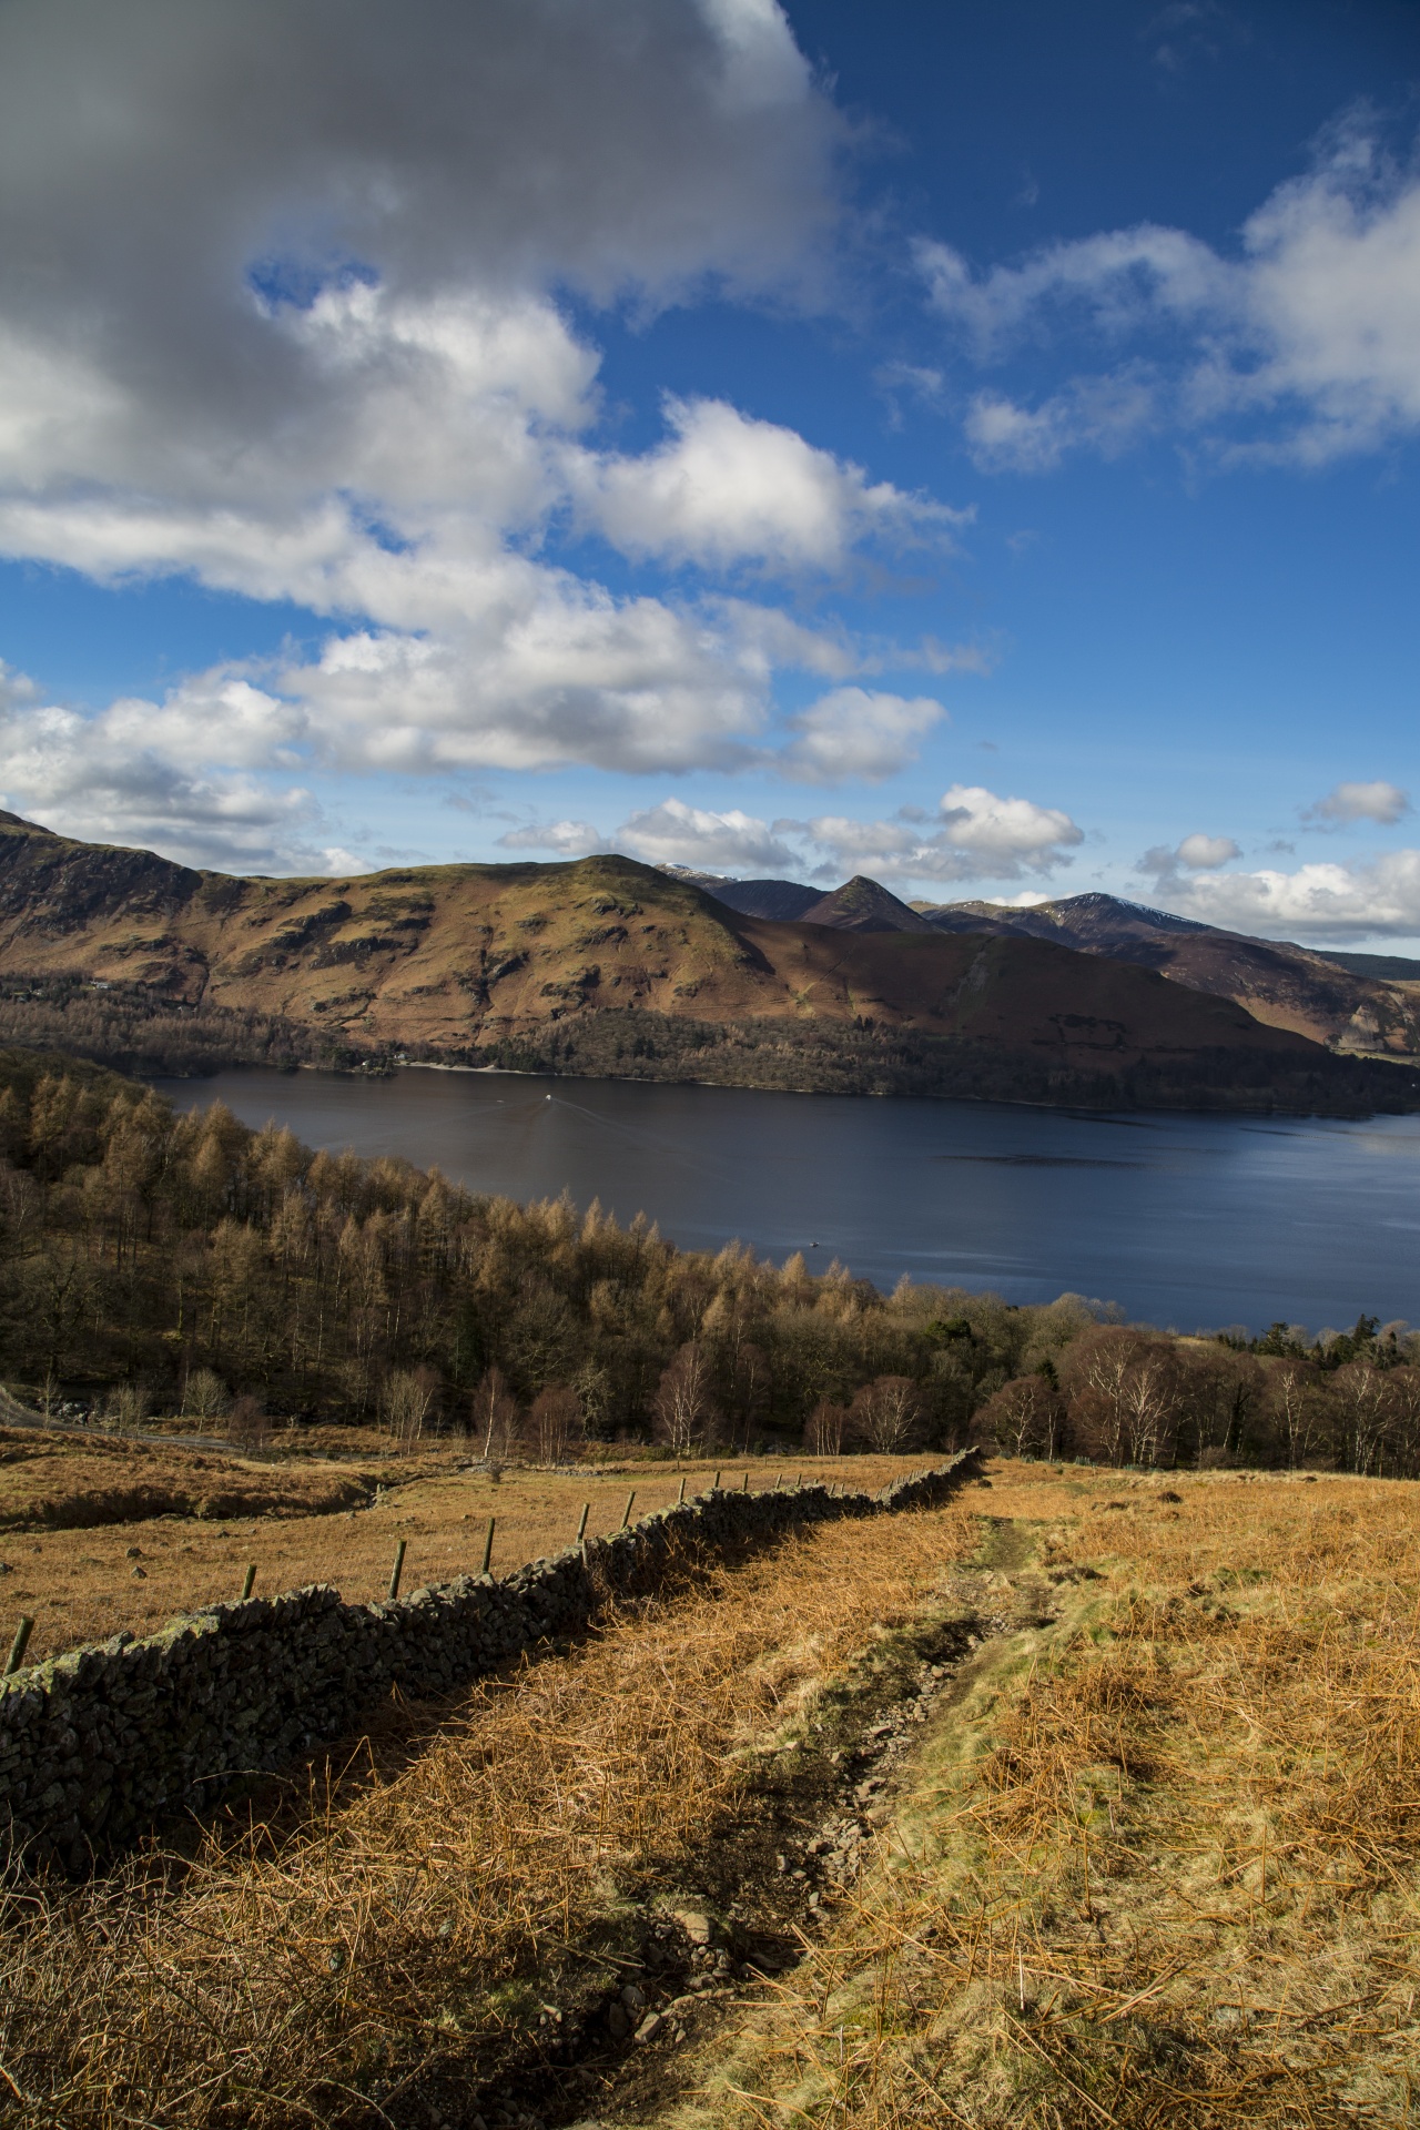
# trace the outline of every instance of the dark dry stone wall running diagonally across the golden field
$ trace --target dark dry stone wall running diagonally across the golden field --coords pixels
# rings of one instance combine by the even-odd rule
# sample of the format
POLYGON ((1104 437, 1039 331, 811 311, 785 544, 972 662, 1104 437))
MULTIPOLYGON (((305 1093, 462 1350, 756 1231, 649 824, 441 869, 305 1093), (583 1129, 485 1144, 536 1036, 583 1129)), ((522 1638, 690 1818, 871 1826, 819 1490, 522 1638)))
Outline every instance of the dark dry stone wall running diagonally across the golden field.
POLYGON ((656 1589, 688 1555, 935 1506, 973 1457, 877 1495, 713 1491, 502 1580, 460 1576, 385 1604, 345 1604, 313 1585, 38 1664, 0 1681, 0 1842, 13 1862, 85 1870, 162 1819, 341 1738, 392 1687, 417 1700, 449 1693, 579 1634, 607 1602, 656 1589))

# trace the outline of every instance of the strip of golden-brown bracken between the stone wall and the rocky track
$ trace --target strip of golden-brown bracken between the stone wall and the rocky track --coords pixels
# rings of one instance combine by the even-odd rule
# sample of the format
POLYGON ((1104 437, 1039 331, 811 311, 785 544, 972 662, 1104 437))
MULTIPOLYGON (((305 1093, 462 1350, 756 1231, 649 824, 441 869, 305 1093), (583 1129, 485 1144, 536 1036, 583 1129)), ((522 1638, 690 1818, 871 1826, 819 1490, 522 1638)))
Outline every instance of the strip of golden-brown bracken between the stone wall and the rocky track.
POLYGON ((149 1862, 13 1894, 9 2119, 436 2119, 404 2113, 404 2081, 436 2092, 534 2028, 624 1874, 705 1840, 734 1749, 911 1619, 971 1540, 958 1508, 824 1525, 479 1687, 413 1759, 387 1736, 383 1770, 358 1755, 279 1828, 213 1836, 166 1883, 149 1862))

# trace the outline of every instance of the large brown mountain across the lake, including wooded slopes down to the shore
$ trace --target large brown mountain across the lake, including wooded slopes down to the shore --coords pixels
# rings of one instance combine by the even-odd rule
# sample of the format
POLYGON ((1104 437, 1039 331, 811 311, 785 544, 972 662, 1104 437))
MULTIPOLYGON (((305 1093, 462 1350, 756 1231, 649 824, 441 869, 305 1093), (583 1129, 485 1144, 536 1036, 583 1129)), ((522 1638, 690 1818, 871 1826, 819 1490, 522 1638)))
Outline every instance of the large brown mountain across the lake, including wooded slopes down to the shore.
MULTIPOLYGON (((832 901, 871 924, 896 899, 832 901)), ((1335 1059, 1128 961, 920 918, 894 931, 749 918, 620 856, 241 880, 0 816, 0 1039, 123 1025, 132 1059, 155 1054, 153 1029, 226 1016, 224 1029, 287 1031, 292 1059, 1107 1105, 1420 1105, 1420 1076, 1335 1059)), ((94 1037, 89 1054, 117 1042, 94 1037)))

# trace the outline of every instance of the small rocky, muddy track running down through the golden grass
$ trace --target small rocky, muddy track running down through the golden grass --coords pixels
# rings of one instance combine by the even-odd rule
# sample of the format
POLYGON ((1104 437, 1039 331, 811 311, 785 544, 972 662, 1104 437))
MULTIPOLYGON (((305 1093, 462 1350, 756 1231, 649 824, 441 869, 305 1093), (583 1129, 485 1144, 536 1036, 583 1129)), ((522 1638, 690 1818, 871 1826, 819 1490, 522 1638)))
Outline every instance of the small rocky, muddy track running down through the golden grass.
POLYGON ((981 1653, 1052 1617, 1050 1585, 1026 1568, 1035 1529, 984 1523, 977 1561, 950 1574, 945 1602, 873 1644, 805 1727, 760 1755, 694 1866, 645 1859, 581 1987, 547 2011, 539 2051, 509 2051, 458 2109, 445 2098, 447 2130, 647 2124, 694 2094, 717 2028, 811 1955, 871 1868, 932 1719, 981 1653))

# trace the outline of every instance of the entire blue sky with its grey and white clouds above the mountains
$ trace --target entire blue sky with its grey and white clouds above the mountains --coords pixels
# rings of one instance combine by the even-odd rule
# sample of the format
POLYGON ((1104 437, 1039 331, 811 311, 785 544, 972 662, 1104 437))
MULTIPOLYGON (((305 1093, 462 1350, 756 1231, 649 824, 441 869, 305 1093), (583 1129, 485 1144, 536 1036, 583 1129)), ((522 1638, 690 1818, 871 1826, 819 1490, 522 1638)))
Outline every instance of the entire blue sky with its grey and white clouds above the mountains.
POLYGON ((0 0, 0 803, 1420 950, 1414 0, 0 0))

